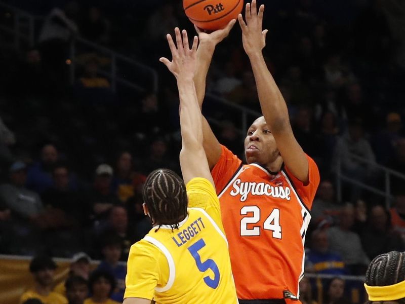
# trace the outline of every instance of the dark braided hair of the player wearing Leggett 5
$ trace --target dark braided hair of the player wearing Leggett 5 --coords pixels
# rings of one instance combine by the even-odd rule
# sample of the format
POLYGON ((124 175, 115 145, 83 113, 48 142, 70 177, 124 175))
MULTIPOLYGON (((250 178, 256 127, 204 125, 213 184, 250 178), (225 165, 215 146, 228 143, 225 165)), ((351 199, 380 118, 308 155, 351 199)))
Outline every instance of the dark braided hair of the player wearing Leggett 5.
POLYGON ((157 169, 150 173, 142 195, 153 224, 178 229, 178 223, 187 216, 186 186, 172 170, 157 169))

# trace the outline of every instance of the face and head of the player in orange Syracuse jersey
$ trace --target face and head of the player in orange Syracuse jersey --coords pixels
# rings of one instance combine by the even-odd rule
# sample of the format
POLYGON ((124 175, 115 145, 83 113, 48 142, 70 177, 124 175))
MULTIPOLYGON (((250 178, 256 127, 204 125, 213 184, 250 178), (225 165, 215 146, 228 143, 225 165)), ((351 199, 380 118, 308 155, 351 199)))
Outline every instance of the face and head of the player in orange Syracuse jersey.
POLYGON ((273 163, 279 156, 277 144, 264 117, 259 117, 249 127, 245 138, 245 156, 248 164, 264 166, 273 163))

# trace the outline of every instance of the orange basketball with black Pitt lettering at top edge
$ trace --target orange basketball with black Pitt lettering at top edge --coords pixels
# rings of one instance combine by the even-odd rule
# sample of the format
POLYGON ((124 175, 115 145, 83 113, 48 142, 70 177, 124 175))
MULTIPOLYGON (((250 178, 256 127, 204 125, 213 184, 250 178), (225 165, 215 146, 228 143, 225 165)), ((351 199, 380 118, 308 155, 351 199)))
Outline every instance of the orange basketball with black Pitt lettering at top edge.
POLYGON ((183 0, 188 19, 200 29, 214 31, 237 19, 243 0, 183 0))

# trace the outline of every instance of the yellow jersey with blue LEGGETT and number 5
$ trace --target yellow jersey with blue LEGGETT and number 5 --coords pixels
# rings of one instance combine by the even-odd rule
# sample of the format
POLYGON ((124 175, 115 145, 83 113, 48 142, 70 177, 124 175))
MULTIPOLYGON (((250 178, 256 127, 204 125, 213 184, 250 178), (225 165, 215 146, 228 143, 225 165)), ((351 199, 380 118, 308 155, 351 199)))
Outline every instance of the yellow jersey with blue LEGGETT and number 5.
POLYGON ((157 304, 237 303, 218 197, 205 178, 187 184, 188 216, 179 229, 154 227, 132 245, 124 298, 157 304))

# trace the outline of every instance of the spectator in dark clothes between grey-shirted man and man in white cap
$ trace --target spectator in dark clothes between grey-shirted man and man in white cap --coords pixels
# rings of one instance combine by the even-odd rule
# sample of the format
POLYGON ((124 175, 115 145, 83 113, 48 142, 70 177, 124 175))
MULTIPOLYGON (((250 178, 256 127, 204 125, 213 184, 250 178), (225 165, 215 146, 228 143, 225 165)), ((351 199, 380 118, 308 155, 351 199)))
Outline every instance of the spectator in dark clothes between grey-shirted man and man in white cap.
POLYGON ((89 221, 89 210, 77 192, 69 187, 69 169, 64 164, 56 164, 52 171, 53 185, 42 195, 42 201, 48 208, 63 213, 65 226, 84 226, 89 221))

